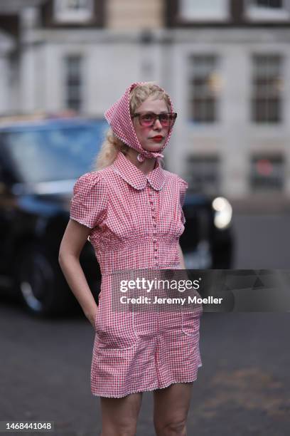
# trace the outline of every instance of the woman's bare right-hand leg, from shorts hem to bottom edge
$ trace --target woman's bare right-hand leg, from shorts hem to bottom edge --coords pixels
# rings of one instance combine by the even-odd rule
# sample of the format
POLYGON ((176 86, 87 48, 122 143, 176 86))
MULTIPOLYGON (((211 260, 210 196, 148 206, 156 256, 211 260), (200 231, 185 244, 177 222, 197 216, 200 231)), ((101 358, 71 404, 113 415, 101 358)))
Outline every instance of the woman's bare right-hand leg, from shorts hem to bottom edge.
POLYGON ((193 382, 173 383, 154 390, 154 427, 157 436, 186 436, 186 419, 193 382))

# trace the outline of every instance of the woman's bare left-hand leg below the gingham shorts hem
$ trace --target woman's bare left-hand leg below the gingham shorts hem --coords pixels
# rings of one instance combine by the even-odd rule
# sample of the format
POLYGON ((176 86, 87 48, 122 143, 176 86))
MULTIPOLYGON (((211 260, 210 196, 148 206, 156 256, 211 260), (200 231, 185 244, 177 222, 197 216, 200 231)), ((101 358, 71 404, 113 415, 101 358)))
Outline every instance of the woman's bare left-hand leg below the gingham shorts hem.
POLYGON ((100 397, 102 412, 101 436, 135 436, 142 393, 122 398, 100 397))

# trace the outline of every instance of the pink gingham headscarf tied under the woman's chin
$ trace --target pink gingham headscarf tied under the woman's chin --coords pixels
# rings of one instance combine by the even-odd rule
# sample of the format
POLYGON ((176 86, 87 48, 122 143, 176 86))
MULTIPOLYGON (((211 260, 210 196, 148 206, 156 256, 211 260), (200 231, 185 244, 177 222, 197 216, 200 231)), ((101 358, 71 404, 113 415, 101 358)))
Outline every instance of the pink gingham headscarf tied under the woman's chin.
MULTIPOLYGON (((142 162, 146 157, 151 159, 153 157, 163 157, 160 152, 149 152, 142 148, 138 137, 136 136, 134 125, 131 120, 130 114, 130 92, 136 85, 144 85, 146 82, 136 82, 131 83, 131 85, 127 88, 124 95, 112 105, 111 108, 104 113, 104 118, 106 118, 107 122, 111 126, 114 134, 119 137, 119 140, 122 140, 124 144, 129 145, 129 147, 134 148, 139 152, 138 160, 142 162)), ((161 90, 163 90, 161 88, 161 90)), ((173 104, 170 100, 171 112, 173 112, 173 104)), ((168 144, 169 138, 171 137, 172 128, 168 132, 168 137, 166 142, 164 142, 163 150, 168 144)))

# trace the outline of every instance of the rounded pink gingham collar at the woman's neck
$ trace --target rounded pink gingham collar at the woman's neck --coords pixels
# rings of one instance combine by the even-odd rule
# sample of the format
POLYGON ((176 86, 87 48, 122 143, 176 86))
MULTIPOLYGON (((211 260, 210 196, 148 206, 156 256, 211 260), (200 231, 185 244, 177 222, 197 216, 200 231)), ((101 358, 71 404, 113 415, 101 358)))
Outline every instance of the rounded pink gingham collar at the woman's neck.
POLYGON ((144 172, 141 172, 141 170, 119 151, 112 167, 114 172, 136 190, 143 190, 144 187, 146 187, 147 180, 154 190, 160 191, 163 188, 165 175, 158 160, 156 160, 154 170, 150 171, 148 175, 145 175, 144 172))

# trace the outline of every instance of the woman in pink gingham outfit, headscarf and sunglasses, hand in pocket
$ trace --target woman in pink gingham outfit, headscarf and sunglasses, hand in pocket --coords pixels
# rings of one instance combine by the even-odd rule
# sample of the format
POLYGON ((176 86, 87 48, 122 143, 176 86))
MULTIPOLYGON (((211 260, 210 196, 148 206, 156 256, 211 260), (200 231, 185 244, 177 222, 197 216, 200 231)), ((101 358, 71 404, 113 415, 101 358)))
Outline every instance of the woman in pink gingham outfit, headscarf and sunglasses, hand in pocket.
MULTIPOLYGON (((135 435, 142 392, 154 391, 157 435, 186 435, 193 380, 200 367, 193 313, 113 311, 115 271, 185 269, 179 237, 187 183, 160 164, 176 113, 154 83, 133 83, 107 110, 110 134, 97 171, 73 190, 60 266, 95 328, 91 389, 100 396, 102 435, 135 435), (79 263, 86 240, 102 272, 99 306, 79 263)), ((85 150, 84 150, 85 152, 85 150)))

